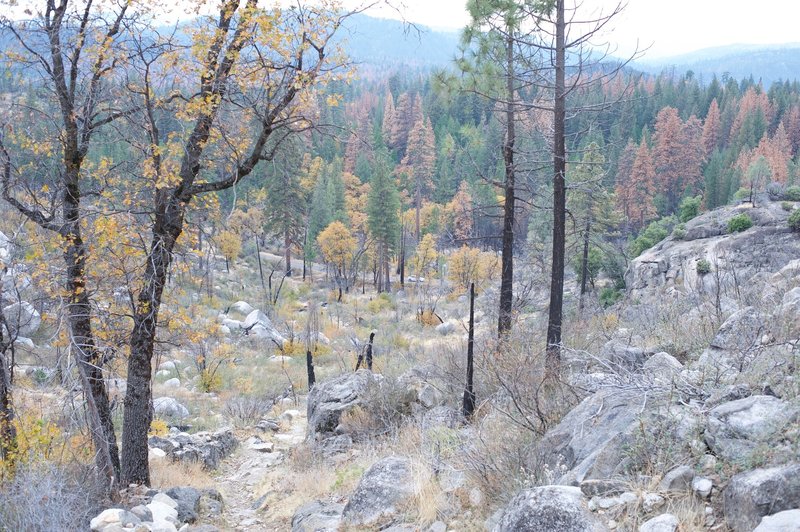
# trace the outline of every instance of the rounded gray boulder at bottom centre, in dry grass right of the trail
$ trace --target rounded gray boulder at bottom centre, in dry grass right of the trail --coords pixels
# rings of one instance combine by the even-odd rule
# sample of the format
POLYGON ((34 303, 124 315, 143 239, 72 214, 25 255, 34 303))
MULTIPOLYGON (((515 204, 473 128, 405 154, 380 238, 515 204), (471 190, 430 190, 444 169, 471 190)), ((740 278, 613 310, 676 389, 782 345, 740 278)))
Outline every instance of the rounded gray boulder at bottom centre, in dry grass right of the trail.
POLYGON ((367 469, 347 500, 342 517, 356 527, 388 524, 414 504, 415 492, 411 460, 389 456, 367 469))

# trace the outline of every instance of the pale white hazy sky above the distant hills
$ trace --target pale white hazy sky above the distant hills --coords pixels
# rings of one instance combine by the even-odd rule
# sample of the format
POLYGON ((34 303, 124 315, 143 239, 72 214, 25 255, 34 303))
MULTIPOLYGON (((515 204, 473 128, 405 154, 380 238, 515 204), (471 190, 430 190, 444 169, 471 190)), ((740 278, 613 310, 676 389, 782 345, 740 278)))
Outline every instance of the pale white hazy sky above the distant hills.
MULTIPOLYGON (((399 0, 406 17, 438 28, 467 22, 464 0, 399 0)), ((569 5, 567 0, 567 5, 569 5)), ((612 0, 584 0, 589 11, 612 0)), ((381 16, 396 18, 388 12, 381 16)), ((727 44, 800 42, 800 0, 628 0, 607 40, 621 54, 650 47, 645 59, 727 44)))

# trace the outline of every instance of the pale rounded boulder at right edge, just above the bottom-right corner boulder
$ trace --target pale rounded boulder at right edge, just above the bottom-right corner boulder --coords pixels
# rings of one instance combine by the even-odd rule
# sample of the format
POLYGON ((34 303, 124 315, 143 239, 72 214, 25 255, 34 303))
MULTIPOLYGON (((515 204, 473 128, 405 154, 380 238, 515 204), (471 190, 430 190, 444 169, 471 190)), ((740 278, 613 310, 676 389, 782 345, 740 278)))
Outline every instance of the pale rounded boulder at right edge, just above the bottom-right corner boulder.
POLYGON ((771 395, 752 395, 723 403, 708 414, 706 443, 719 457, 745 460, 797 415, 797 408, 771 395))

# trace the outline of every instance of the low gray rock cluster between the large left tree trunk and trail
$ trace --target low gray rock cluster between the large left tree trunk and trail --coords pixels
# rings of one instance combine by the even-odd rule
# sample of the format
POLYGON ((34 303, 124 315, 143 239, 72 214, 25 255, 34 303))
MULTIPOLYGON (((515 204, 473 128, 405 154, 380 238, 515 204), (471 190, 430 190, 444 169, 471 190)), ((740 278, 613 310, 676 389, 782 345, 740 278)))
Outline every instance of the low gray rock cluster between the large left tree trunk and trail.
POLYGON ((161 449, 172 460, 200 462, 207 469, 216 469, 220 461, 236 449, 239 442, 230 429, 222 429, 214 433, 198 432, 193 435, 182 432, 167 438, 152 436, 148 444, 161 449))

